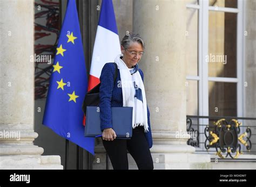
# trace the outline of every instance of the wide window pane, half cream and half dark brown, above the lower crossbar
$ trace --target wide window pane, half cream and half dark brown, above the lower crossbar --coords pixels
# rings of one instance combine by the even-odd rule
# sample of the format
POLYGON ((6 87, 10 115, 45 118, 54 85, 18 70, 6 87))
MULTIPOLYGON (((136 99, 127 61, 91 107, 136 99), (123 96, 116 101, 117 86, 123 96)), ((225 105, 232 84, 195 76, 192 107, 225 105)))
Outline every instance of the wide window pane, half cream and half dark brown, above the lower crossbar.
POLYGON ((237 14, 209 11, 208 76, 237 77, 237 14))

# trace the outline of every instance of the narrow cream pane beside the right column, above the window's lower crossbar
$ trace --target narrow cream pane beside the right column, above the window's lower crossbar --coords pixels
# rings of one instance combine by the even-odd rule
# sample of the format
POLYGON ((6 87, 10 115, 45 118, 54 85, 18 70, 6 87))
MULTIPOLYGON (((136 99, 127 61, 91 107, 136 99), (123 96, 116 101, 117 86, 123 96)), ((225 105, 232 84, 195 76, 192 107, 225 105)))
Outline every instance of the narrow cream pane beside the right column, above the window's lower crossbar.
POLYGON ((198 10, 187 9, 186 75, 198 75, 198 10))

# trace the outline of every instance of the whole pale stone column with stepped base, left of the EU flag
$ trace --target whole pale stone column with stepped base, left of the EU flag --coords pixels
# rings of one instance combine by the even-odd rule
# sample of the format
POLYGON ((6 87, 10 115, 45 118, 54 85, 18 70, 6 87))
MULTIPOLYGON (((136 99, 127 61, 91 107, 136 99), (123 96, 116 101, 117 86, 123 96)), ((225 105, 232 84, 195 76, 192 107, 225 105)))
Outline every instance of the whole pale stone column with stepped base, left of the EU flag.
POLYGON ((33 10, 31 0, 0 0, 0 169, 63 169, 33 145, 33 10))

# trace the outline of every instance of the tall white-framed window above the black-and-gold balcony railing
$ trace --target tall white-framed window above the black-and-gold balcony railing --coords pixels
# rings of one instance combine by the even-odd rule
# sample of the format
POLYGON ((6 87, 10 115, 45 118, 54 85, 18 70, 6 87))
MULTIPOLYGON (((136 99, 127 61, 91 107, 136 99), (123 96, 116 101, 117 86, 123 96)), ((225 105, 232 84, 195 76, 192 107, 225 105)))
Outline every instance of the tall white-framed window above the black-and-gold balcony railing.
POLYGON ((243 116, 243 8, 241 0, 187 4, 187 115, 243 116))

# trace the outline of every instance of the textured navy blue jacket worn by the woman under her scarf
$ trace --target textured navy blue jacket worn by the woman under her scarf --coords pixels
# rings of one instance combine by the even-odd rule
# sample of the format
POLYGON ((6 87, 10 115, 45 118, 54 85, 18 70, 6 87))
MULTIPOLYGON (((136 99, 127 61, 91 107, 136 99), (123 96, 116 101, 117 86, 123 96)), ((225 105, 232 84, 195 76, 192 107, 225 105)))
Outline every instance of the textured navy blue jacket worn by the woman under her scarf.
MULTIPOLYGON (((138 70, 142 80, 144 81, 143 72, 141 69, 138 70)), ((120 71, 117 71, 117 79, 114 82, 114 72, 115 66, 112 62, 106 63, 102 69, 102 73, 99 77, 100 88, 99 88, 99 97, 100 97, 100 129, 103 131, 105 128, 112 128, 112 115, 111 107, 122 107, 123 106, 123 94, 122 88, 117 87, 120 83, 120 71), (118 82, 119 81, 119 82, 118 82)), ((150 127, 150 111, 147 107, 147 123, 149 124, 149 131, 144 132, 147 142, 149 143, 149 148, 152 147, 152 134, 150 127)))

